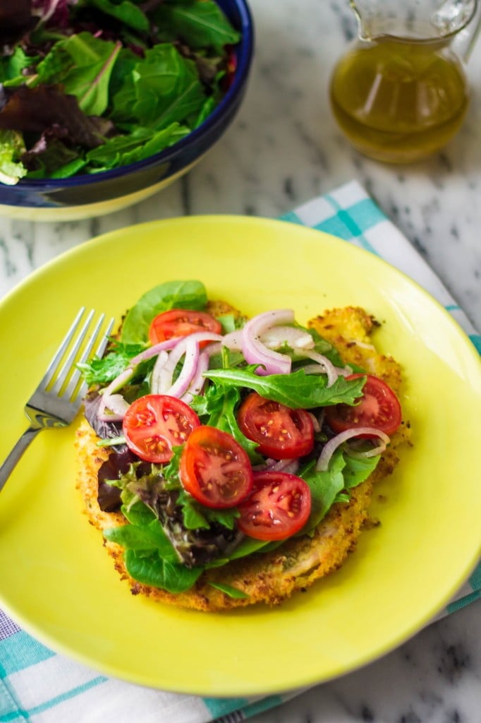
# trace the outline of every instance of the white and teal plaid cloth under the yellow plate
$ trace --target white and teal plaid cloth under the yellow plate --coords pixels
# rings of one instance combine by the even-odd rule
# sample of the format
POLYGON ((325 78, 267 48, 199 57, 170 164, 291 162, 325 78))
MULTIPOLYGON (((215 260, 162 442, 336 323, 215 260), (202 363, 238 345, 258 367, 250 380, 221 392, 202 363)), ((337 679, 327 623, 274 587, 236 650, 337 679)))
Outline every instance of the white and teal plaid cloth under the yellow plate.
MULTIPOLYGON (((449 310, 481 354, 481 335, 409 241, 351 181, 284 217, 378 254, 449 310)), ((481 597, 481 565, 442 615, 481 597)), ((298 691, 300 693, 301 691, 298 691)), ((239 723, 293 698, 199 698, 149 690, 98 675, 57 655, 0 611, 0 723, 239 723)))

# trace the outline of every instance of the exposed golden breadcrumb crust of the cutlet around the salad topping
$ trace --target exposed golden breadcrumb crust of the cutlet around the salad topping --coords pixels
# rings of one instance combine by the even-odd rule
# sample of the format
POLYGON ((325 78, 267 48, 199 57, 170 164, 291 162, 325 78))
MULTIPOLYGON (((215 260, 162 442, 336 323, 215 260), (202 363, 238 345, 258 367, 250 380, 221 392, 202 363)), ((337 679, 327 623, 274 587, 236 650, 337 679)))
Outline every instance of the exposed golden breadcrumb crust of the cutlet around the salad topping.
MULTIPOLYGON (((224 302, 211 304, 211 313, 228 313, 232 309, 224 302)), ((358 364, 373 375, 381 377, 399 394, 401 369, 390 356, 378 354, 371 334, 378 322, 363 309, 347 307, 324 312, 309 322, 324 338, 338 349, 346 364, 358 364)), ((316 580, 339 568, 355 549, 363 525, 368 521, 373 485, 391 474, 399 458, 397 450, 409 441, 409 425, 403 420, 392 435, 391 444, 381 457, 376 470, 363 484, 352 489, 351 500, 333 505, 313 536, 300 536, 284 542, 272 552, 259 553, 233 560, 222 568, 202 574, 190 590, 171 594, 165 590, 133 580, 123 563, 123 549, 103 539, 121 579, 132 594, 143 594, 160 602, 192 609, 215 611, 246 606, 259 602, 278 604, 296 590, 306 590, 316 580), (232 598, 215 589, 210 583, 223 583, 245 592, 247 598, 232 598)), ((86 420, 77 430, 75 447, 78 460, 77 487, 82 494, 84 512, 99 531, 126 523, 121 513, 105 513, 97 503, 97 471, 108 457, 106 448, 96 446, 97 437, 86 420)))

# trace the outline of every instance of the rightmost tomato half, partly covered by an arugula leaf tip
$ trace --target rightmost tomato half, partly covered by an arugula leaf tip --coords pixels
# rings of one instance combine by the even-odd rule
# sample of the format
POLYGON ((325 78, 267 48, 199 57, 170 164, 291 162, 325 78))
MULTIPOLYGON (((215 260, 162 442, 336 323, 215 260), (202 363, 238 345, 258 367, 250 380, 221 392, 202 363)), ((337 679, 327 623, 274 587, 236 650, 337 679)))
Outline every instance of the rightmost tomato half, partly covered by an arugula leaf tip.
MULTIPOLYGON (((392 435, 402 419, 401 405, 391 387, 378 377, 351 374, 346 379, 367 377, 359 404, 336 404, 326 407, 326 419, 334 432, 344 432, 352 427, 376 427, 386 435, 392 435)), ((363 435, 368 436, 368 435, 363 435)))

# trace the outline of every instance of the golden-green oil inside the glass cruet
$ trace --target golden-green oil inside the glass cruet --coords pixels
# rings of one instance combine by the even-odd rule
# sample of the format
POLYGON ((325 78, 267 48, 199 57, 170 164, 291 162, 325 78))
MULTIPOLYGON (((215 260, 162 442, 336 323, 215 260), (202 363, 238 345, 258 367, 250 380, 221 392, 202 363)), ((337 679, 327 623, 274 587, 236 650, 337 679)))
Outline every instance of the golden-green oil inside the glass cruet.
POLYGON ((459 130, 467 82, 448 48, 386 38, 339 62, 331 103, 339 127, 361 153, 409 163, 443 147, 459 130))

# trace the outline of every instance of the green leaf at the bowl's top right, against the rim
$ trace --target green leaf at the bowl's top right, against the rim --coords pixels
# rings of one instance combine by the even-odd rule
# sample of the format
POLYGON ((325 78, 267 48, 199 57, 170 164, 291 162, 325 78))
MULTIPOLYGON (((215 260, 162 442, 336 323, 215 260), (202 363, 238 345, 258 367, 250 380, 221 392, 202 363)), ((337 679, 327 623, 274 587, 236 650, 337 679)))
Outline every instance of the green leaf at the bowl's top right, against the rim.
POLYGON ((222 51, 225 45, 238 43, 240 35, 230 25, 222 9, 213 0, 166 1, 155 12, 160 27, 169 27, 191 48, 212 47, 222 51))

